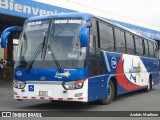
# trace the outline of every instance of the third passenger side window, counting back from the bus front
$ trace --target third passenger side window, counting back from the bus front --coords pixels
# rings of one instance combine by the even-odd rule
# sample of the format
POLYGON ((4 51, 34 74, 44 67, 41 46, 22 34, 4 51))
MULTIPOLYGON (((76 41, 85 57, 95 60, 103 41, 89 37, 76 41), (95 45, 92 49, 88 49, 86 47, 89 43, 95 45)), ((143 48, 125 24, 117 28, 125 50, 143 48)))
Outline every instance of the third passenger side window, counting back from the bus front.
POLYGON ((126 46, 128 54, 135 54, 133 35, 126 32, 126 46))

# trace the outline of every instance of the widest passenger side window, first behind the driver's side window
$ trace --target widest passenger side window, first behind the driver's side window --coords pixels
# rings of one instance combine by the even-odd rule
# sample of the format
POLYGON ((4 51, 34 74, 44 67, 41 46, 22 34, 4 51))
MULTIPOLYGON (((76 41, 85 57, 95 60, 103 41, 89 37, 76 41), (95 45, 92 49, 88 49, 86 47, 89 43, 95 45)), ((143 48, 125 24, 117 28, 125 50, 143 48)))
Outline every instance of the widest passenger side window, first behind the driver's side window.
POLYGON ((103 50, 114 51, 113 28, 99 23, 100 48, 103 50))

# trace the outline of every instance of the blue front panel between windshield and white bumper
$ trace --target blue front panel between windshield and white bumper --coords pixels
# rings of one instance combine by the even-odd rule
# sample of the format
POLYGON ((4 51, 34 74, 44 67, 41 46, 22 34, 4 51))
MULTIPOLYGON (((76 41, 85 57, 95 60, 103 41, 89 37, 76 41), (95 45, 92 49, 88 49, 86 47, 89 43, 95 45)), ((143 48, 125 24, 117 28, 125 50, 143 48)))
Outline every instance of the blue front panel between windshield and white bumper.
POLYGON ((29 72, 25 72, 24 68, 16 68, 14 71, 14 78, 20 81, 72 81, 87 78, 88 70, 84 69, 73 69, 73 70, 62 70, 62 73, 69 72, 69 76, 62 76, 61 78, 56 77, 57 69, 30 69, 29 72), (22 72, 21 76, 18 76, 17 72, 22 72), (41 77, 45 79, 41 79, 41 77))

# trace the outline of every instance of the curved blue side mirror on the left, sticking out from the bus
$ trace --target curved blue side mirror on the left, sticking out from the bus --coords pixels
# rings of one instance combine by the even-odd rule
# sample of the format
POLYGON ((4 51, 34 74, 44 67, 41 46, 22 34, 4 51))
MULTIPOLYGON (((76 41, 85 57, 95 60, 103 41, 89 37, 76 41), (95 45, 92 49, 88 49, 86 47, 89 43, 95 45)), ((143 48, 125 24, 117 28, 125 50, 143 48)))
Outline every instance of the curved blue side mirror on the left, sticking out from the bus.
POLYGON ((8 40, 8 36, 12 31, 20 31, 22 28, 19 26, 13 26, 6 28, 1 35, 1 47, 5 48, 8 40))

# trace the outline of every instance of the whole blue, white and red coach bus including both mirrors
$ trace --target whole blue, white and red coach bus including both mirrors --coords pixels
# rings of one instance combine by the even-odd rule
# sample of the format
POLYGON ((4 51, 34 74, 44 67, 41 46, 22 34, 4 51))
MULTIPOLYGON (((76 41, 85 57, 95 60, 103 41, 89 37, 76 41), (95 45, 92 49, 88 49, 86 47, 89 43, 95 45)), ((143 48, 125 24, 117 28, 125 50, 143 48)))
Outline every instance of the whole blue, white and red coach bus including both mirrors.
POLYGON ((88 13, 63 13, 27 19, 14 66, 14 99, 99 101, 131 91, 149 92, 159 83, 157 43, 88 13))

